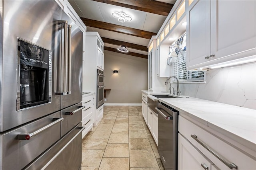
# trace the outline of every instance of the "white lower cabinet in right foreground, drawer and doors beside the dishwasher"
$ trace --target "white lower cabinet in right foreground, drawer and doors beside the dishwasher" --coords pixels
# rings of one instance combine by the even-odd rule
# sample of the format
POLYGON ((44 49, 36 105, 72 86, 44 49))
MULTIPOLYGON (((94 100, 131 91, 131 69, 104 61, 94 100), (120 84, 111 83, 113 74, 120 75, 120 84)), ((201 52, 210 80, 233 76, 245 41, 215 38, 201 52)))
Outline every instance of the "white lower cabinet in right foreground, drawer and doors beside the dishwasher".
POLYGON ((232 140, 234 139, 224 140, 218 136, 219 133, 217 131, 210 129, 208 126, 194 119, 186 119, 179 115, 178 131, 178 169, 180 170, 193 169, 192 167, 198 170, 199 166, 196 166, 196 162, 206 164, 206 160, 210 160, 206 164, 208 170, 211 168, 221 170, 256 169, 256 160, 253 158, 253 155, 246 152, 248 150, 246 146, 240 146, 240 148, 233 146, 231 143, 233 143, 232 140), (206 131, 206 129, 208 130, 206 131), (205 155, 207 159, 201 159, 198 156, 200 154, 195 152, 195 150, 205 155))

